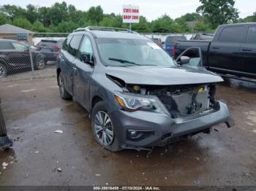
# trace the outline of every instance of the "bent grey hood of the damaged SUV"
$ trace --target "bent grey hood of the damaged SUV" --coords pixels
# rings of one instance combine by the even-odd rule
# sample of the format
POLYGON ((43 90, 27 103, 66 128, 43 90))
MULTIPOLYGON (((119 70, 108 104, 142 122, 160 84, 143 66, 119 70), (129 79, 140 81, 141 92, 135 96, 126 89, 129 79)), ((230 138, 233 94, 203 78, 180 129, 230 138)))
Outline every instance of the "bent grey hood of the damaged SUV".
POLYGON ((184 85, 222 82, 222 77, 206 69, 189 67, 106 67, 106 74, 118 77, 127 84, 184 85))

